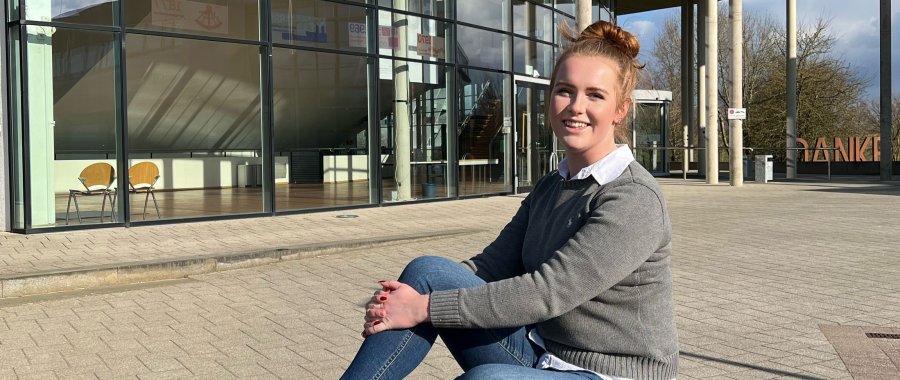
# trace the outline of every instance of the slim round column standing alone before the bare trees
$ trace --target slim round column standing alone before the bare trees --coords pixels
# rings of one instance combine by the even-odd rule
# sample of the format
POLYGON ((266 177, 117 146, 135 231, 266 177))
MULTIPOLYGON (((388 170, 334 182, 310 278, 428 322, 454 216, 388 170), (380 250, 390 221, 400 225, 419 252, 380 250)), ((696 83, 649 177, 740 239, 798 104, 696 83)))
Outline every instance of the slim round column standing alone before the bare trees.
POLYGON ((797 0, 787 0, 787 178, 797 178, 797 0))

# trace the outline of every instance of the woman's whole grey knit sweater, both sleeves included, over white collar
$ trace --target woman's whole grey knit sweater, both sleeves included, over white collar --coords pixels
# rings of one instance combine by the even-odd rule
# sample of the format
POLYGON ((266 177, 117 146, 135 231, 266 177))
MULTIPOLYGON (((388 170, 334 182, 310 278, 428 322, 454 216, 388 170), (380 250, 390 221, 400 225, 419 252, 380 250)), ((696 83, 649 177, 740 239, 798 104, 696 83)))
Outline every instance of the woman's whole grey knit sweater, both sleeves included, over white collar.
POLYGON ((536 325, 547 350, 598 373, 672 379, 678 337, 672 229, 656 180, 637 162, 600 186, 541 178, 512 221, 463 262, 488 284, 431 294, 445 328, 536 325))

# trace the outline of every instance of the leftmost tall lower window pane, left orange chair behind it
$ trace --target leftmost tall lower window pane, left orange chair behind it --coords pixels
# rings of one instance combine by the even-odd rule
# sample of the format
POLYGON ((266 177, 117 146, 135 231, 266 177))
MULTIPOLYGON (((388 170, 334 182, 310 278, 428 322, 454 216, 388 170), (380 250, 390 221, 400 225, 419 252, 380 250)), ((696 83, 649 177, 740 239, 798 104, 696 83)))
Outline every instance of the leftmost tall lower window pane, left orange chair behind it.
POLYGON ((109 223, 116 164, 114 34, 56 28, 51 35, 49 29, 26 27, 31 226, 65 224, 67 216, 73 224, 109 223), (83 172, 91 164, 106 171, 83 172), (70 194, 77 201, 71 209, 70 194))

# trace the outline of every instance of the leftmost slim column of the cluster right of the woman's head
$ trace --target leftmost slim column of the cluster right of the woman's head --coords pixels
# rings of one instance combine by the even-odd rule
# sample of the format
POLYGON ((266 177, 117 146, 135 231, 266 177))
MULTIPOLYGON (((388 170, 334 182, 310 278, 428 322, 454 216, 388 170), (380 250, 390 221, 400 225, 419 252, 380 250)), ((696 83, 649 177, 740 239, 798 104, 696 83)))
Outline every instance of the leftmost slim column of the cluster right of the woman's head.
POLYGON ((693 144, 694 128, 694 3, 682 0, 681 3, 681 129, 684 139, 682 170, 687 175, 693 150, 686 147, 693 144))

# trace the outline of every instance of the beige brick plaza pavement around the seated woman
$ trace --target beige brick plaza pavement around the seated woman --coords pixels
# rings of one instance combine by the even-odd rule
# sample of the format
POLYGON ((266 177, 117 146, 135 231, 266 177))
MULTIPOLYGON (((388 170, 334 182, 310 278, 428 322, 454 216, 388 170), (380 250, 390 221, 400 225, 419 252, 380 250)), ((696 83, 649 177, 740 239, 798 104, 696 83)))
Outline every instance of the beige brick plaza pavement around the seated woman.
MULTIPOLYGON (((897 182, 660 182, 674 229, 679 379, 900 378, 900 339, 890 339, 900 338, 897 182)), ((476 253, 520 201, 0 234, 0 278, 36 282, 308 248, 180 280, 2 298, 0 378, 337 378, 375 280, 420 254, 476 253)), ((439 344, 410 377, 459 373, 439 344)))

